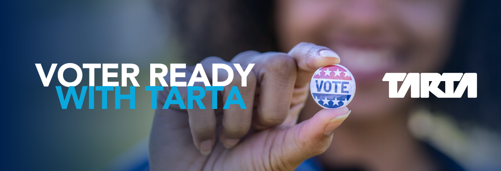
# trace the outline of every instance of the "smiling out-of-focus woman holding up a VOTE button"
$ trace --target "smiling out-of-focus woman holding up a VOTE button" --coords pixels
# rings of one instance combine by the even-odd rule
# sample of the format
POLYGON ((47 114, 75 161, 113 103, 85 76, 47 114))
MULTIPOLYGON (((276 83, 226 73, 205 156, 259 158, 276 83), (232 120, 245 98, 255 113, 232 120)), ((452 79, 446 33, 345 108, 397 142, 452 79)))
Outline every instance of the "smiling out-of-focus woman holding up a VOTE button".
MULTIPOLYGON (((389 98, 381 81, 386 72, 443 67, 459 0, 161 3, 177 21, 183 57, 201 63, 207 76, 212 63, 255 66, 247 86, 240 77, 230 83, 246 109, 221 109, 230 85, 219 92, 218 109, 161 109, 170 87, 159 92, 151 170, 463 170, 413 138, 406 121, 416 99, 389 98), (309 95, 314 71, 336 63, 357 82, 351 110, 322 109, 309 95)), ((181 71, 191 75, 193 68, 181 71)), ((186 102, 186 88, 179 91, 186 102)), ((206 93, 202 102, 211 106, 211 99, 206 93)))

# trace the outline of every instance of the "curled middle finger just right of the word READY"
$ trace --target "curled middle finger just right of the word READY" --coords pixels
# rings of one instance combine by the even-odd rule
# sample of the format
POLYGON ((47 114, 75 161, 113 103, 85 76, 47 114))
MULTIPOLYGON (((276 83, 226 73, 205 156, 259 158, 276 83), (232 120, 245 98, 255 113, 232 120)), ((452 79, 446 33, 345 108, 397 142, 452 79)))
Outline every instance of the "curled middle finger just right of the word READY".
POLYGON ((284 122, 291 107, 296 62, 286 54, 267 52, 255 55, 251 63, 256 63, 259 86, 259 104, 255 112, 255 128, 265 129, 284 122))

